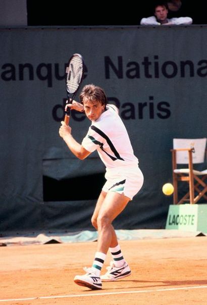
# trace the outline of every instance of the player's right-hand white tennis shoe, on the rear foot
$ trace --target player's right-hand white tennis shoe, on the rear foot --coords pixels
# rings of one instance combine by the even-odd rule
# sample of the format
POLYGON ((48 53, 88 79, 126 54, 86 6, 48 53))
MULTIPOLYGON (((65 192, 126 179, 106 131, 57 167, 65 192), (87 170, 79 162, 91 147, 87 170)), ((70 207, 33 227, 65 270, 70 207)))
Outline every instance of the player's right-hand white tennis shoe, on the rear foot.
POLYGON ((121 267, 115 267, 114 262, 111 262, 107 270, 107 273, 100 276, 102 282, 116 281, 131 274, 129 265, 126 262, 121 267))

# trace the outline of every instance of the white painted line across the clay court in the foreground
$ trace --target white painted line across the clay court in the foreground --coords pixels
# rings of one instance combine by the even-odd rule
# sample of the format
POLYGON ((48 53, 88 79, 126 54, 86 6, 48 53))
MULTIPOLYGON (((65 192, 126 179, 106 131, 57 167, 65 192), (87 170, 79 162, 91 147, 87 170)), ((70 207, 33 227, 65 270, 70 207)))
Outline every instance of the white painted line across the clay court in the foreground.
POLYGON ((0 299, 0 302, 9 301, 27 301, 34 299, 46 299, 46 298, 63 298, 63 297, 80 297, 80 296, 93 296, 93 295, 112 295, 112 294, 127 294, 127 293, 145 293, 145 292, 158 292, 158 291, 172 291, 172 290, 186 290, 186 289, 203 289, 207 286, 193 286, 193 287, 179 287, 179 288, 166 288, 166 289, 149 289, 149 290, 135 290, 135 291, 120 291, 120 292, 102 292, 102 293, 82 293, 82 294, 68 294, 68 295, 53 295, 53 296, 37 296, 26 298, 10 298, 0 299))

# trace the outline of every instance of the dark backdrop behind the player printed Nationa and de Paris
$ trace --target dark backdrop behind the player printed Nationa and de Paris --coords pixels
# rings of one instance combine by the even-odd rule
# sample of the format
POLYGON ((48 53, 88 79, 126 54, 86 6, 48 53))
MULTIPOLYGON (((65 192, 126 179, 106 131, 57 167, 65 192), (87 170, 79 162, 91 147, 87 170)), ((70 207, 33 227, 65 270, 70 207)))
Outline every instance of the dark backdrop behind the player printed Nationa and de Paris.
MULTIPOLYGON (((162 185, 172 182, 173 138, 207 135, 206 29, 1 28, 1 231, 92 228, 97 194, 90 189, 105 169, 95 153, 77 160, 58 133, 74 53, 85 62, 82 86, 103 87, 119 107, 145 177, 115 227, 165 227, 172 196, 162 185)), ((89 121, 72 112, 70 124, 81 141, 89 121)))

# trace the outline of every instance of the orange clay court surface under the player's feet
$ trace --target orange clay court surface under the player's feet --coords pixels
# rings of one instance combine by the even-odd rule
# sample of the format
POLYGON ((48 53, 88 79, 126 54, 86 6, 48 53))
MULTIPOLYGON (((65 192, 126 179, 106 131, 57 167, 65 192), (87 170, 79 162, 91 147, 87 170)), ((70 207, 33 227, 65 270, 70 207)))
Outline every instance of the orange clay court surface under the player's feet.
MULTIPOLYGON (((89 290, 73 282, 93 260, 96 242, 0 248, 1 304, 206 304, 207 239, 120 241, 132 274, 89 290)), ((105 267, 110 262, 108 255, 105 267)))

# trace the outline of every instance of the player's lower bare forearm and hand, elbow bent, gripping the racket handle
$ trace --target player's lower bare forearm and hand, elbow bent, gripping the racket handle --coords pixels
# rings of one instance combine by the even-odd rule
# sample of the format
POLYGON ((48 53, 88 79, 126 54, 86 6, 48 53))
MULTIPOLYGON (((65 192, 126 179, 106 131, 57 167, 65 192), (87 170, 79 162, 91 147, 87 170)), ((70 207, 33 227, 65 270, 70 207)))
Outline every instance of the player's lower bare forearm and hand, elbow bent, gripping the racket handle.
POLYGON ((90 155, 90 151, 86 150, 81 144, 79 144, 71 134, 71 127, 66 125, 65 122, 61 122, 59 134, 66 142, 68 148, 71 150, 73 155, 78 159, 83 160, 90 155))

